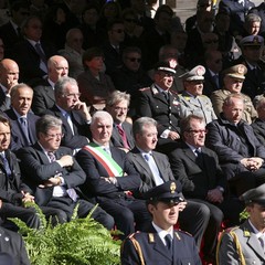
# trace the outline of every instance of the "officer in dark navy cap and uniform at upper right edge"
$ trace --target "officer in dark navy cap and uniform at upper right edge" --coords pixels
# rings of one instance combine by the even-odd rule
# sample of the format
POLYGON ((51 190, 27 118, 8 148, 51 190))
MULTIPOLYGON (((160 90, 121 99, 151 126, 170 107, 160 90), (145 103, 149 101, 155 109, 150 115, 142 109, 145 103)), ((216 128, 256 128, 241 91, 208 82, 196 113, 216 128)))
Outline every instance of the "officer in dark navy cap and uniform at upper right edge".
POLYGON ((240 42, 242 55, 234 64, 244 64, 247 68, 242 92, 253 100, 265 92, 265 63, 261 60, 264 39, 259 35, 248 35, 240 42))

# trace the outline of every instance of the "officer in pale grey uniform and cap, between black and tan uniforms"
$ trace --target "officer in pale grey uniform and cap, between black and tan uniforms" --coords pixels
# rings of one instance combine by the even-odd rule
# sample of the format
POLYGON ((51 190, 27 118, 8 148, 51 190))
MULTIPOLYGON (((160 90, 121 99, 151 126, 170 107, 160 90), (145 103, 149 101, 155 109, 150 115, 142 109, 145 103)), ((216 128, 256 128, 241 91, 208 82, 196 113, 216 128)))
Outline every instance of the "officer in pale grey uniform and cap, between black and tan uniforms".
POLYGON ((206 124, 216 119, 210 98, 202 95, 204 74, 205 68, 202 65, 198 65, 180 76, 184 85, 184 92, 179 95, 181 118, 194 114, 202 116, 206 124))

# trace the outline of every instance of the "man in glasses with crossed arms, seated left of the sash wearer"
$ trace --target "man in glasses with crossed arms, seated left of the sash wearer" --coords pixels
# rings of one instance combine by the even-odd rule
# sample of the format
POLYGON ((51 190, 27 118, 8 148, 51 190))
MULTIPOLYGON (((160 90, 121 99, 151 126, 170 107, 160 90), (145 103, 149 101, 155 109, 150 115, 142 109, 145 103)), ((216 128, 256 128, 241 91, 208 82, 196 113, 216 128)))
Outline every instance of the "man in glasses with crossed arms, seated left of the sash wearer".
MULTIPOLYGON (((38 141, 20 149, 18 156, 24 181, 32 189, 35 202, 40 206, 61 210, 59 222, 66 222, 77 204, 78 218, 85 218, 94 204, 82 199, 78 186, 85 182, 85 173, 72 150, 60 146, 62 135, 62 120, 44 115, 36 121, 38 141)), ((114 225, 113 218, 100 208, 96 208, 92 218, 109 230, 114 225)))

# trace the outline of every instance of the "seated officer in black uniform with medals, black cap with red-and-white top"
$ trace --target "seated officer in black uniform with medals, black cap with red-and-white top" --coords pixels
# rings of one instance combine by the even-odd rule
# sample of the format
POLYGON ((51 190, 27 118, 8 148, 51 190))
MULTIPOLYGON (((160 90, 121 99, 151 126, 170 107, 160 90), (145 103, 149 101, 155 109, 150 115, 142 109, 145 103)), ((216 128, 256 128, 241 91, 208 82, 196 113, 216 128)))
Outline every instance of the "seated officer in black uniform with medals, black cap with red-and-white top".
MULTIPOLYGON (((176 65, 159 62, 155 67, 153 84, 139 91, 137 117, 150 117, 158 123, 158 147, 180 139, 180 103, 171 89, 176 65)), ((160 151, 163 151, 162 148, 160 151)))

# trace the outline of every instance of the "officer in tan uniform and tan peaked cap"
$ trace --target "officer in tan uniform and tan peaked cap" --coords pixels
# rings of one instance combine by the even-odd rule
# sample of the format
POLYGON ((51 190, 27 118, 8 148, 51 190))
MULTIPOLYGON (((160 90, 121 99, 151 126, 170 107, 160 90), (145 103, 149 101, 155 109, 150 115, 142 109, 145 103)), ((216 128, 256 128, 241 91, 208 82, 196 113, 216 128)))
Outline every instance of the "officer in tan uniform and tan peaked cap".
POLYGON ((247 68, 243 64, 236 64, 223 71, 222 75, 224 86, 222 89, 215 91, 211 95, 213 109, 219 117, 223 112, 224 99, 231 93, 240 94, 244 100, 244 113, 242 116, 243 120, 252 124, 252 121, 257 117, 257 113, 253 106, 252 99, 247 95, 241 93, 246 72, 247 68))

